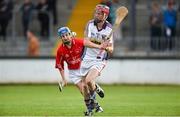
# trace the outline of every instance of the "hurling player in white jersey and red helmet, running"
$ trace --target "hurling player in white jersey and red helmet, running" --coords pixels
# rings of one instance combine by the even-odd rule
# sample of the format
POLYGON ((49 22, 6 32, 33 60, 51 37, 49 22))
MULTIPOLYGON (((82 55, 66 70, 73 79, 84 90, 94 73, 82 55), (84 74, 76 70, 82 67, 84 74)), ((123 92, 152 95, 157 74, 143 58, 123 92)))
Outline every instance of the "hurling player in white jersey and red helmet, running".
MULTIPOLYGON (((108 35, 112 31, 111 24, 106 20, 109 15, 109 7, 105 5, 97 5, 95 8, 94 19, 87 23, 85 29, 85 36, 91 39, 91 42, 101 44, 108 38, 108 35)), ((84 78, 84 82, 89 86, 90 95, 92 101, 94 101, 95 108, 100 107, 96 101, 95 92, 100 97, 104 97, 103 90, 95 83, 95 79, 100 75, 101 71, 106 65, 108 53, 113 52, 113 39, 110 37, 110 45, 105 50, 85 48, 82 57, 81 74, 84 78)), ((102 112, 103 109, 99 108, 98 112, 102 112)), ((87 115, 92 110, 87 110, 87 115)))

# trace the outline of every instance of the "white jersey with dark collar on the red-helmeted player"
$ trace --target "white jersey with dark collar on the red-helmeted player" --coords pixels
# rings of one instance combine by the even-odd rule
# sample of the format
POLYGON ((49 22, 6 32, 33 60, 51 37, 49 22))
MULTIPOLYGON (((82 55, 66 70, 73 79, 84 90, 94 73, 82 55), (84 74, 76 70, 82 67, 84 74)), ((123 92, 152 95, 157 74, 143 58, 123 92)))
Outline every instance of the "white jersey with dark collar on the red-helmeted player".
MULTIPOLYGON (((91 39, 91 42, 100 44, 103 39, 109 36, 110 32, 112 31, 112 26, 109 22, 105 22, 103 28, 101 30, 97 29, 97 25, 94 20, 90 20, 86 26, 86 36, 91 39)), ((113 36, 111 36, 112 38, 113 36)), ((111 39, 112 41, 112 39, 111 39)), ((110 42, 112 43, 112 42, 110 42)), ((94 48, 85 48, 83 54, 83 60, 103 60, 107 59, 107 52, 103 51, 101 54, 100 49, 94 48)))

